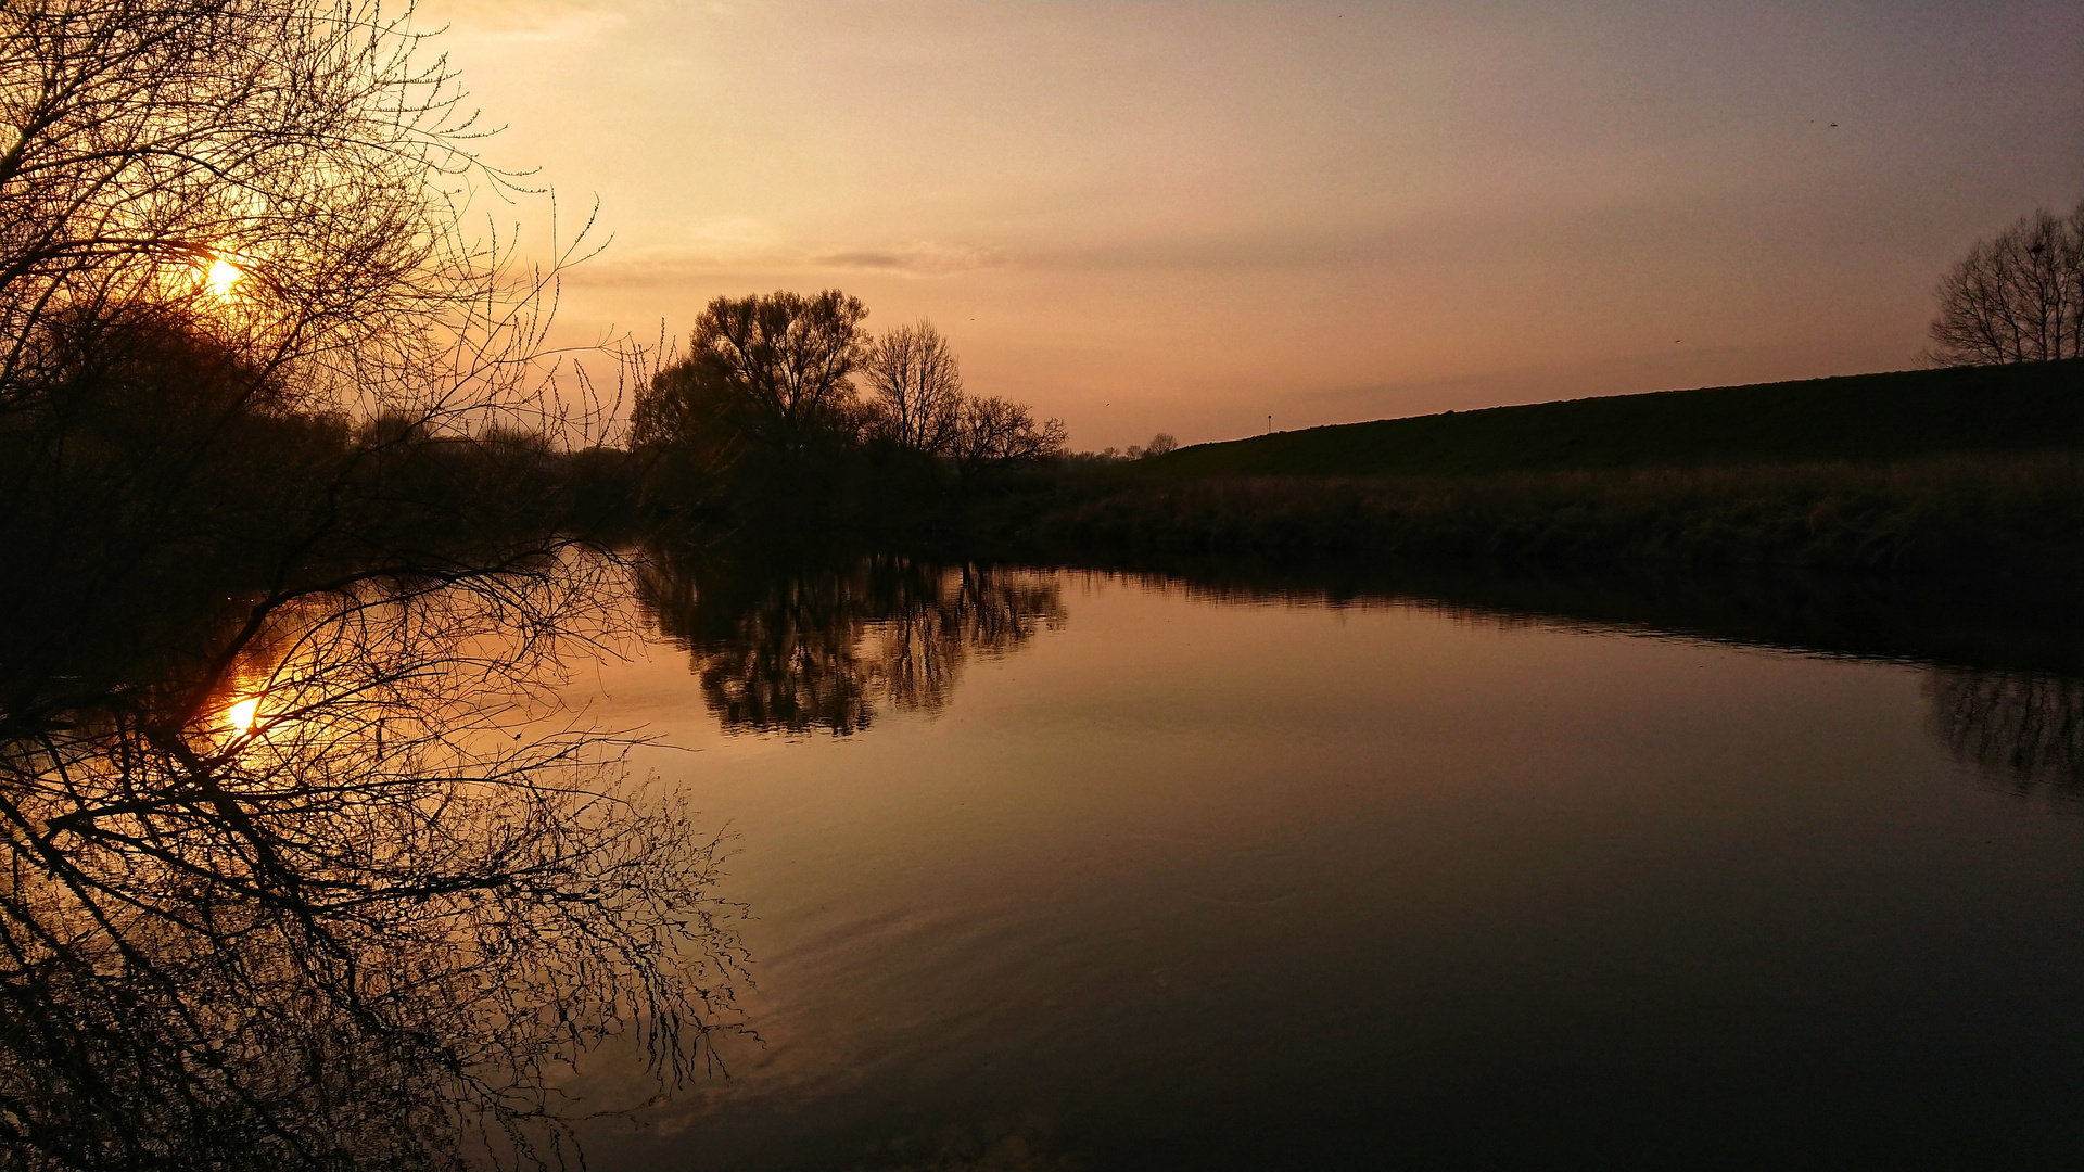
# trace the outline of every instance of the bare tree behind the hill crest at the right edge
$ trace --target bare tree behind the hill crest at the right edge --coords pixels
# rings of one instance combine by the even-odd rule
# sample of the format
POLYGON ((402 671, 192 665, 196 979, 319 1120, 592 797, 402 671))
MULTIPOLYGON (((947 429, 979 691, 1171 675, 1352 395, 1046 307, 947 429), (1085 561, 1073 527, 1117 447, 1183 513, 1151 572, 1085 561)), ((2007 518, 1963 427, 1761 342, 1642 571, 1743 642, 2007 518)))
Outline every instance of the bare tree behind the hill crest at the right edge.
POLYGON ((1944 367, 2084 357, 2084 200, 1978 240, 1938 288, 1928 361, 1944 367))

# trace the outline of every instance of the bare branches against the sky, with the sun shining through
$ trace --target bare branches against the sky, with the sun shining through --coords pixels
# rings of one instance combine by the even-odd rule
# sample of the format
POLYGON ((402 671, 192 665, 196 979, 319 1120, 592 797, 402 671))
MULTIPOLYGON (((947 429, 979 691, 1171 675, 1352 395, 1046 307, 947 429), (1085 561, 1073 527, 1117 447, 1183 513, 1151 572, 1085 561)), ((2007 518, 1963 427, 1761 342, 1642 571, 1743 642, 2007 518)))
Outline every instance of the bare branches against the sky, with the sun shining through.
POLYGON ((544 267, 465 231, 471 188, 508 177, 477 165, 411 17, 381 0, 8 4, 0 411, 48 384, 54 338, 156 307, 277 407, 569 423, 542 342, 586 234, 544 267))

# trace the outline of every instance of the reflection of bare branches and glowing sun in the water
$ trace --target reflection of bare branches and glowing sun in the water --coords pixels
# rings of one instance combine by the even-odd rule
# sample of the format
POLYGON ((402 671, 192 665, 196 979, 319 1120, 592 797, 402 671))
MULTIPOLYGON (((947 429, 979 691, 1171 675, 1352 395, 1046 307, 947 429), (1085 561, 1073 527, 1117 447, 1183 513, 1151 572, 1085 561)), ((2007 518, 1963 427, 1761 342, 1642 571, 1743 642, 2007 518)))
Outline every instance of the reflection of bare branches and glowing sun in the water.
POLYGON ((736 972, 713 840, 513 701, 594 578, 369 578, 183 678, 6 697, 0 1166, 561 1164, 590 1049, 688 1074, 736 972))

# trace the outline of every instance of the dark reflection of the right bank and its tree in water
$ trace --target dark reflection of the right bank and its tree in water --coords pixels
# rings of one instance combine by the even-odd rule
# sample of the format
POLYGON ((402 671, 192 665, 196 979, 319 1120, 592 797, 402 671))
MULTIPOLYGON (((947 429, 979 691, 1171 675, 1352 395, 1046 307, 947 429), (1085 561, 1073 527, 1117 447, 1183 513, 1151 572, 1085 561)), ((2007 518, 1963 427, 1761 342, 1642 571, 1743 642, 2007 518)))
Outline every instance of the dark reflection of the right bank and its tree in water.
POLYGON ((1509 573, 1175 561, 1146 588, 1238 605, 1398 605, 1500 628, 1563 626, 1921 665, 1926 728, 2021 795, 2084 801, 2084 619, 2067 582, 1796 571, 1509 573))

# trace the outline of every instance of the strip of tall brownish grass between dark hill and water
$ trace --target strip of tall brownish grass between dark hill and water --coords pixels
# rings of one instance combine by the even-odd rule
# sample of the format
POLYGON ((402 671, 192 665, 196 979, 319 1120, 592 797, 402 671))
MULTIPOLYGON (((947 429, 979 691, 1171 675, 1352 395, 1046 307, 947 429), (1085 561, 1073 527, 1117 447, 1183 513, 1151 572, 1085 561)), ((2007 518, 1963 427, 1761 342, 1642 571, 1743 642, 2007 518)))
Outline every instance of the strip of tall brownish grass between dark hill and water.
POLYGON ((1086 551, 2076 571, 2084 455, 1067 484, 1032 534, 1086 551))

